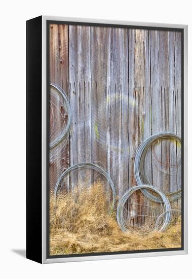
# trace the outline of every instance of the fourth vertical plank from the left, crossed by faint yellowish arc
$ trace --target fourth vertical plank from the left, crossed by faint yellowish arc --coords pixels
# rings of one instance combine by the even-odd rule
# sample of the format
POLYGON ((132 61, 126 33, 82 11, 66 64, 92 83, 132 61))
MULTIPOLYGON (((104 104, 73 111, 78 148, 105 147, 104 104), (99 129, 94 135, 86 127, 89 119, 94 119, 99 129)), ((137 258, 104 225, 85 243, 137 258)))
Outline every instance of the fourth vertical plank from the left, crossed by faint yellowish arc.
POLYGON ((122 196, 128 187, 128 30, 112 28, 110 36, 110 173, 122 196))

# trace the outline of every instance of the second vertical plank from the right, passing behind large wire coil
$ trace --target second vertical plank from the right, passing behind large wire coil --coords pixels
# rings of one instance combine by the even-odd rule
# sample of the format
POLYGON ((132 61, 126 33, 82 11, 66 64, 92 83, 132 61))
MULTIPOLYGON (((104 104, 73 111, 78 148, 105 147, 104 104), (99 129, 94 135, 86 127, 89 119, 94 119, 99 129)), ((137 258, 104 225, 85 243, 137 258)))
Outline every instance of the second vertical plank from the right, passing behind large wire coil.
MULTIPOLYGON (((150 31, 152 134, 170 130, 169 32, 150 31)), ((152 146, 152 185, 169 192, 170 165, 168 141, 152 146), (166 171, 165 171, 166 169, 166 171)))

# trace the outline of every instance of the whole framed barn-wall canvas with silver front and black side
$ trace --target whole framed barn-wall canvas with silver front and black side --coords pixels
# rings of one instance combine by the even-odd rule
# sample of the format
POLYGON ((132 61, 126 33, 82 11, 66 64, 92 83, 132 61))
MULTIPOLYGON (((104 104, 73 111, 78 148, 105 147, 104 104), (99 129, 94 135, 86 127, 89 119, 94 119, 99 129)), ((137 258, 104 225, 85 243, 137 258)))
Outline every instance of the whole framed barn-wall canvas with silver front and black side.
POLYGON ((27 258, 187 253, 187 26, 27 21, 27 258))

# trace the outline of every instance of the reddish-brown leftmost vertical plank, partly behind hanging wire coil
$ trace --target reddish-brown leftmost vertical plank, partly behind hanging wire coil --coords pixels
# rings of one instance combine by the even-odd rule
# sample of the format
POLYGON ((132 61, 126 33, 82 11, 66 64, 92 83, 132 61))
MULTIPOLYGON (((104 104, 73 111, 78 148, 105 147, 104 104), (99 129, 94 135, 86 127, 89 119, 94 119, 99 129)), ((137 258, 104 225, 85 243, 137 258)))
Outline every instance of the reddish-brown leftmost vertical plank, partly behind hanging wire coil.
MULTIPOLYGON (((50 24, 50 82, 59 85, 68 95, 68 25, 50 24)), ((58 97, 59 106, 60 97, 58 97)), ((61 125, 59 108, 55 111, 55 129, 61 125)), ((61 154, 61 146, 50 150, 50 189, 53 190, 59 175, 69 166, 69 143, 61 154)), ((68 188, 68 186, 66 186, 68 188)))

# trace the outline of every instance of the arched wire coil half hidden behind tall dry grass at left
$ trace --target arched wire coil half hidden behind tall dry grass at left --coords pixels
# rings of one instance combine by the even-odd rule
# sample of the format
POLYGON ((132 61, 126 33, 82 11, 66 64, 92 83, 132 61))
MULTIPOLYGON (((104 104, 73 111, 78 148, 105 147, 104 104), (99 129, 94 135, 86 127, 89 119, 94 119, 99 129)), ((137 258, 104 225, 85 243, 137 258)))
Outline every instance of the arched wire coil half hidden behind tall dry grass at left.
MULTIPOLYGON (((56 185, 55 185, 55 190, 54 190, 54 195, 56 197, 57 195, 57 191, 59 189, 59 186, 61 185, 61 182, 63 180, 63 178, 70 172, 73 170, 79 170, 79 169, 83 169, 83 168, 89 168, 89 169, 93 169, 98 171, 99 173, 101 173, 107 180, 107 182, 110 185, 110 188, 112 190, 112 203, 111 203, 111 207, 110 207, 110 213, 113 211, 114 208, 114 202, 116 200, 116 188, 114 187, 114 183, 111 179, 111 176, 109 175, 109 173, 107 172, 106 169, 104 169, 103 167, 96 165, 94 163, 79 163, 79 164, 75 164, 73 166, 70 166, 69 168, 67 168, 62 175, 59 177, 56 185)), ((61 185, 62 187, 62 185, 61 185)))

